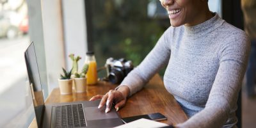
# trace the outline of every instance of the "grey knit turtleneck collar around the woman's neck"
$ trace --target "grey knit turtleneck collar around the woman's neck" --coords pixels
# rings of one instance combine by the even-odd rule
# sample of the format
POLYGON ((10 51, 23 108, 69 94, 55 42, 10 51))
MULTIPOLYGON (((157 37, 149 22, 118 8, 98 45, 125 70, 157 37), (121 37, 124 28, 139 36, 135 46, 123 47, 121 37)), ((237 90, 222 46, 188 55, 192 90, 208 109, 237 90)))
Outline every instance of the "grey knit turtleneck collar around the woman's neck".
POLYGON ((184 31, 187 35, 202 35, 214 31, 214 29, 221 26, 223 22, 224 20, 222 20, 219 15, 215 13, 214 17, 202 22, 201 24, 197 24, 195 26, 184 26, 184 31))

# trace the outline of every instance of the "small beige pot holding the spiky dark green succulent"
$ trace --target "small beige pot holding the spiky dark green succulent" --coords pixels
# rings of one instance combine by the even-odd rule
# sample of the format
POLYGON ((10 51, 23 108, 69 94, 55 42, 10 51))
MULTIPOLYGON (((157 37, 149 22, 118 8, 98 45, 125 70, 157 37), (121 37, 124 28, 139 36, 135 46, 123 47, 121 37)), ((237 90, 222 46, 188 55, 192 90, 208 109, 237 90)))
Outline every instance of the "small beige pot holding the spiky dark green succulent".
POLYGON ((72 93, 72 79, 58 79, 61 95, 72 93))

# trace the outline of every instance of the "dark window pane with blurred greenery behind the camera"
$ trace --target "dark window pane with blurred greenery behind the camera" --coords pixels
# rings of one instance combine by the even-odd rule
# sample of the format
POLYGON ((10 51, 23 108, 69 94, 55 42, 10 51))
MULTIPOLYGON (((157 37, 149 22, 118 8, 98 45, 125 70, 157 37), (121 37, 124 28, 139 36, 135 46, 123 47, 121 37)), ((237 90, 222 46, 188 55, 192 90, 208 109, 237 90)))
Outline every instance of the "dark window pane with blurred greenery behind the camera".
MULTIPOLYGON (((158 0, 94 0, 92 40, 98 67, 110 57, 138 65, 170 26, 158 0)), ((104 75, 104 74, 103 74, 104 75)))

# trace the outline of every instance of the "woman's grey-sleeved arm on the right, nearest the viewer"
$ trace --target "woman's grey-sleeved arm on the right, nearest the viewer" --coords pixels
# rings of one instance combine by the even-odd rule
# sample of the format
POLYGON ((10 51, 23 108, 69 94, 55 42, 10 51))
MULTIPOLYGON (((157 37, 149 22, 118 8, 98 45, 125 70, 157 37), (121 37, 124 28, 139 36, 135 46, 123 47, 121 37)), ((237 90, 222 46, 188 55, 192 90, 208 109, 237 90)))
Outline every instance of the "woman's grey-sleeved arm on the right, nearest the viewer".
POLYGON ((246 36, 236 35, 224 41, 220 48, 220 67, 205 108, 177 127, 222 127, 241 89, 250 52, 246 36), (233 38, 233 39, 231 39, 233 38), (226 43, 227 42, 227 43, 226 43))

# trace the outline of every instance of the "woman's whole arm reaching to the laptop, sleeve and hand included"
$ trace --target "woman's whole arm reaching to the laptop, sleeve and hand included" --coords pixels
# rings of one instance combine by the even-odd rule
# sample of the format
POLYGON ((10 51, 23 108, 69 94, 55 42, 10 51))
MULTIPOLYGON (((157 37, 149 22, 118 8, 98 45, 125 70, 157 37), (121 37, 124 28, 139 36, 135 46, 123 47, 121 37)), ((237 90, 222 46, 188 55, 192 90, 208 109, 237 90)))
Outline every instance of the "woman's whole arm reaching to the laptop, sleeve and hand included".
POLYGON ((167 36, 170 36, 170 28, 159 38, 156 46, 150 51, 145 60, 125 77, 120 86, 116 87, 115 90, 109 90, 105 95, 95 95, 90 100, 101 99, 99 108, 106 104, 106 113, 110 111, 109 108, 111 108, 112 102, 115 102, 116 111, 122 108, 127 97, 140 90, 143 84, 147 83, 156 74, 157 70, 168 62, 170 58, 170 41, 168 41, 167 36))

